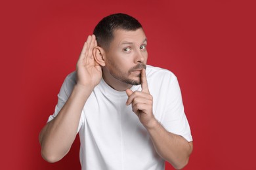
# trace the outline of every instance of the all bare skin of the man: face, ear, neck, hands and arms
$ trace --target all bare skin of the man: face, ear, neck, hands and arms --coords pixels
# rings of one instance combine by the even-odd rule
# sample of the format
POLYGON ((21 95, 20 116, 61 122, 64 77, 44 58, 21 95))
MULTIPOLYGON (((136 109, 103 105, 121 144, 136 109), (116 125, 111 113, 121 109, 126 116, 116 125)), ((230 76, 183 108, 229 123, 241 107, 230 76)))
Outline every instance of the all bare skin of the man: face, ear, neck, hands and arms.
POLYGON ((55 162, 68 153, 77 133, 81 110, 103 77, 112 88, 127 93, 124 105, 132 105, 161 158, 169 161, 175 169, 182 169, 188 163, 192 142, 166 131, 154 117, 153 97, 146 80, 147 59, 146 36, 142 29, 115 30, 108 50, 97 46, 95 36, 90 35, 77 61, 74 90, 56 118, 43 127, 39 135, 43 158, 55 162), (133 84, 141 84, 142 91, 130 90, 133 84))

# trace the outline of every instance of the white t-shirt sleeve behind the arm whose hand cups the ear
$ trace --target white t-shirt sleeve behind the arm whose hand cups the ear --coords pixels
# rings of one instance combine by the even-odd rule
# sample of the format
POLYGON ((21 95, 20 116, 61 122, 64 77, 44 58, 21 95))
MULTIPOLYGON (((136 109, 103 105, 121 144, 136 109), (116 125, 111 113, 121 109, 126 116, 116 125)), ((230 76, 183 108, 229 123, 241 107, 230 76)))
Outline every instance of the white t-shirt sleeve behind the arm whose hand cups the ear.
MULTIPOLYGON (((76 83, 75 76, 76 76, 75 72, 73 72, 73 73, 70 73, 70 75, 68 75, 65 78, 65 80, 60 88, 60 92, 58 93, 58 103, 55 106, 53 115, 49 116, 47 123, 50 122, 51 120, 53 120, 58 115, 58 112, 60 112, 60 110, 65 105, 66 101, 68 100, 68 97, 70 97, 70 94, 72 93, 72 90, 74 89, 74 86, 76 83)), ((83 124, 82 120, 83 120, 83 114, 81 114, 79 126, 77 128, 77 133, 83 124)))

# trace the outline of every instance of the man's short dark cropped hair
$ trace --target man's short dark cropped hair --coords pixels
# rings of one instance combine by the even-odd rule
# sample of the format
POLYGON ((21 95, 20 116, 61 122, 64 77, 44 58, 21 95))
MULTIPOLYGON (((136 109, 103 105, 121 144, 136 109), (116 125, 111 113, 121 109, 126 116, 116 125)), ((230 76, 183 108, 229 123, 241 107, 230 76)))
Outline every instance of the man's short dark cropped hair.
POLYGON ((142 25, 138 20, 127 14, 118 13, 111 14, 100 20, 93 34, 96 36, 98 46, 107 50, 110 42, 114 38, 114 30, 124 29, 127 31, 135 31, 139 28, 142 28, 142 25))

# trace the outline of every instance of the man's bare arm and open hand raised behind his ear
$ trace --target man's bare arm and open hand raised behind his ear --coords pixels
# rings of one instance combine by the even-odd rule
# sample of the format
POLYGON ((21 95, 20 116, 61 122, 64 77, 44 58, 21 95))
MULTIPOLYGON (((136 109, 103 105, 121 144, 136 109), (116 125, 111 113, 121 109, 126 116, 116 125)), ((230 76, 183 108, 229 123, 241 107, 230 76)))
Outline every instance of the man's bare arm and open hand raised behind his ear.
POLYGON ((93 58, 95 46, 95 35, 89 36, 77 61, 77 84, 58 115, 39 134, 41 155, 49 162, 62 159, 70 150, 83 107, 102 77, 101 67, 93 58))

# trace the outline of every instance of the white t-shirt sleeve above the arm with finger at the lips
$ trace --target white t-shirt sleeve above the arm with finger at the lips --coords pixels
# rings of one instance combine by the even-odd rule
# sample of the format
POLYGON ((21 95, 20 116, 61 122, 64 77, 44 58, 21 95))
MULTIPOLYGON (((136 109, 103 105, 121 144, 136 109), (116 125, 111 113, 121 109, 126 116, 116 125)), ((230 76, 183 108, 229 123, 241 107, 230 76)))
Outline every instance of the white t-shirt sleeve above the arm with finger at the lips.
POLYGON ((184 139, 190 142, 192 141, 192 135, 188 120, 184 113, 181 89, 177 77, 171 75, 168 84, 165 92, 165 114, 163 116, 163 122, 161 123, 167 131, 181 135, 184 139))

